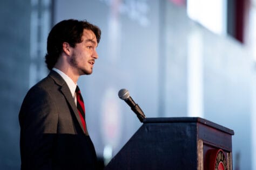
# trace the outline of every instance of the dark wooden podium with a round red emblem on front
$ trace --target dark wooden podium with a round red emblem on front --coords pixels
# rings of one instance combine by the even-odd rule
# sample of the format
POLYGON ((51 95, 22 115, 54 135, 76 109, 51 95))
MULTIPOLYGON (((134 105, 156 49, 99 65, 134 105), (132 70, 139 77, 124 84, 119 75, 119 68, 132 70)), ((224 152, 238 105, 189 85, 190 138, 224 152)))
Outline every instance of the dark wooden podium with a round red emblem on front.
POLYGON ((145 118, 105 169, 232 169, 233 134, 199 117, 145 118))

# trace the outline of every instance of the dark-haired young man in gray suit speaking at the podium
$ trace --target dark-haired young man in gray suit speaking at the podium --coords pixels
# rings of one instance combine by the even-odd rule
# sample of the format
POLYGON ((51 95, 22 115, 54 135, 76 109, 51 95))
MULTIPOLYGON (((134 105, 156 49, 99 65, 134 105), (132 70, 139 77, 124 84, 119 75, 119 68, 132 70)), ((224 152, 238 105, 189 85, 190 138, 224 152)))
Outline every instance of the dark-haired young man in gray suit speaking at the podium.
POLYGON ((92 73, 100 34, 97 26, 74 19, 49 33, 50 73, 28 91, 19 112, 21 169, 96 169, 77 81, 92 73))

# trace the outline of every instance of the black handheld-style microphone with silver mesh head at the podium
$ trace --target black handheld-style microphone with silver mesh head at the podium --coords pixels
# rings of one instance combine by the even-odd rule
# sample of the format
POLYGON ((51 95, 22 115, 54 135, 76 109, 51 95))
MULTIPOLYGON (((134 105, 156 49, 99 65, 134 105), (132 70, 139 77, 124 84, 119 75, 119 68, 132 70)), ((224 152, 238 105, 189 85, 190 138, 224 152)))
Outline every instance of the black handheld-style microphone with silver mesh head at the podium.
POLYGON ((142 109, 140 109, 139 105, 132 100, 129 91, 126 89, 121 89, 118 92, 118 96, 131 107, 131 110, 137 115, 139 121, 143 122, 143 119, 146 118, 146 116, 144 115, 142 109))

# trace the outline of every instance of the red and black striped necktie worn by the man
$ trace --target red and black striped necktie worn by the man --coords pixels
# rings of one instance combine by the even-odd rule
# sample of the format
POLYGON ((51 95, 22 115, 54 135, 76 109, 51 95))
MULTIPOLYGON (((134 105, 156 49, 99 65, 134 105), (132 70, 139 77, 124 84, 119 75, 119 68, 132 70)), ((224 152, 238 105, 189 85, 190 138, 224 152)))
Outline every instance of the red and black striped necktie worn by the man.
POLYGON ((81 91, 79 87, 77 86, 76 88, 76 95, 77 95, 77 110, 81 119, 81 122, 84 127, 84 131, 86 134, 88 134, 87 129, 86 129, 86 123, 85 123, 85 108, 84 108, 84 100, 81 95, 81 91))

